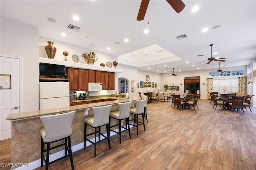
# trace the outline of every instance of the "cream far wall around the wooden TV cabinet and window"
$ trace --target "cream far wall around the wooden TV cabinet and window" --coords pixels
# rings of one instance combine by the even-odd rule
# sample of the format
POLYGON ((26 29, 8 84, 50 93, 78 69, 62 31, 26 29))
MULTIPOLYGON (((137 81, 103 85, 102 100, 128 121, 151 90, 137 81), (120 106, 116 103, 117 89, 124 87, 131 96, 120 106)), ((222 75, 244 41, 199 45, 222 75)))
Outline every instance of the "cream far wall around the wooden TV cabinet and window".
POLYGON ((179 76, 169 76, 172 75, 172 73, 164 73, 162 74, 162 83, 161 88, 163 88, 164 84, 167 83, 169 86, 174 83, 174 85, 179 86, 179 90, 184 91, 184 77, 195 77, 200 76, 200 94, 201 99, 207 98, 207 87, 206 87, 206 79, 207 78, 213 78, 213 79, 236 79, 237 77, 246 77, 247 76, 247 69, 246 65, 244 66, 238 66, 238 67, 225 67, 221 68, 224 71, 231 71, 231 70, 244 70, 244 75, 242 76, 218 76, 218 77, 209 77, 209 72, 212 72, 212 69, 206 69, 206 70, 194 70, 194 71, 184 71, 174 72, 175 74, 179 74, 179 76), (180 83, 182 85, 180 85, 180 83), (203 85, 205 83, 205 85, 203 85))

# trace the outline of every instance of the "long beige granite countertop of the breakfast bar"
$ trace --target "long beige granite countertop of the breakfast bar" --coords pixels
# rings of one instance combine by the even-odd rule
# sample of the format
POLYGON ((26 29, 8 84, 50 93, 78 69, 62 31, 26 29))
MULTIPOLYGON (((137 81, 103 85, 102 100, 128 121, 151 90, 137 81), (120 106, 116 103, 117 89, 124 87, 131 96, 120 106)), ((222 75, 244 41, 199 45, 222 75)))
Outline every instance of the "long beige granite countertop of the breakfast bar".
MULTIPOLYGON (((84 105, 60 107, 60 108, 54 108, 54 109, 30 111, 30 112, 23 112, 23 113, 14 113, 14 114, 8 115, 6 120, 8 120, 8 121, 18 121, 20 119, 30 119, 30 118, 34 118, 34 117, 40 117, 40 116, 43 116, 43 115, 52 115, 52 114, 56 114, 56 113, 65 113, 65 112, 69 112, 69 111, 88 109, 88 108, 97 107, 97 106, 112 105, 112 104, 114 105, 114 104, 124 103, 124 102, 128 102, 128 101, 140 100, 140 98, 138 98, 137 95, 134 95, 133 97, 130 97, 130 99, 124 99, 122 97, 97 97, 97 98, 88 99, 88 100, 100 100, 100 99, 116 99, 116 100, 104 101, 104 102, 98 102, 98 103, 89 103, 89 104, 84 104, 84 105)), ((88 100, 77 100, 75 102, 88 101, 88 100)))

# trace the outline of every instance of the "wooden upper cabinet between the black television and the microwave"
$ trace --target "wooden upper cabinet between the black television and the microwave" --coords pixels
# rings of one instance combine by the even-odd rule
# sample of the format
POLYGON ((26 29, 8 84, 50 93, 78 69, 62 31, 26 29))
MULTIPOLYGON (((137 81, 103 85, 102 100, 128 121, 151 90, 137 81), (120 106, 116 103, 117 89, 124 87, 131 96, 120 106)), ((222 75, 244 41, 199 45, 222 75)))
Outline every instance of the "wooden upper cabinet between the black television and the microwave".
POLYGON ((88 90, 88 70, 68 68, 70 91, 88 90))

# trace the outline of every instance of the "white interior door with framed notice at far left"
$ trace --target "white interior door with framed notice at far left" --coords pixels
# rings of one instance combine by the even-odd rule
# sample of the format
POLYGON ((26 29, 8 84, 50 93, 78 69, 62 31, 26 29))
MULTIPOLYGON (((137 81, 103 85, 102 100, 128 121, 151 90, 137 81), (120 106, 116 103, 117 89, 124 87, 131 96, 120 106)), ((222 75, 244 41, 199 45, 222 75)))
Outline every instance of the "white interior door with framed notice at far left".
MULTIPOLYGON (((0 140, 5 140, 12 137, 11 121, 6 120, 7 116, 20 112, 19 59, 0 56, 0 74, 10 75, 11 79, 11 89, 0 89, 0 140)), ((0 79, 0 83, 3 82, 4 79, 0 79)))

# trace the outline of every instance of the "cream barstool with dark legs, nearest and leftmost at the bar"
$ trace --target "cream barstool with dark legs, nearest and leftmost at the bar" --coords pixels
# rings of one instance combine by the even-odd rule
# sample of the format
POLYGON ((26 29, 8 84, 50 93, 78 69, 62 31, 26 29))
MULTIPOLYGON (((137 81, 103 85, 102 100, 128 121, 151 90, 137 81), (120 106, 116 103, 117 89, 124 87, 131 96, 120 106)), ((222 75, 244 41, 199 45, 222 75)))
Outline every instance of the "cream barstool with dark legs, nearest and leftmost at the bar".
POLYGON ((43 161, 46 164, 46 170, 50 164, 57 162, 63 158, 69 156, 72 170, 74 170, 74 163, 72 157, 70 136, 72 134, 72 121, 76 111, 71 111, 68 113, 62 113, 58 115, 47 115, 41 116, 40 119, 44 128, 40 129, 41 133, 41 167, 43 166, 43 161), (60 140, 65 140, 65 143, 59 144, 50 148, 50 144, 60 140), (44 150, 44 143, 47 145, 46 150, 44 150), (65 156, 58 158, 52 162, 49 162, 50 150, 64 146, 65 145, 65 156), (46 152, 46 159, 44 158, 44 152, 46 152), (68 152, 68 154, 67 154, 68 152))

